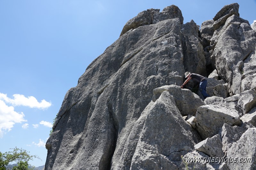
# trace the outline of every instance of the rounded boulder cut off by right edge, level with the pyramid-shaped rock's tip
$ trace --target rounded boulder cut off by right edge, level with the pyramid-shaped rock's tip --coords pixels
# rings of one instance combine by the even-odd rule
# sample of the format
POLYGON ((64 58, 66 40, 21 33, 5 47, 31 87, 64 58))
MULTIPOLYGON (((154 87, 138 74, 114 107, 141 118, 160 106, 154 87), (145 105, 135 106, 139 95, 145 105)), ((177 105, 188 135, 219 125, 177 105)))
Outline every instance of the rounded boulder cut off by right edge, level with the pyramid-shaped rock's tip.
POLYGON ((256 107, 256 90, 246 90, 241 93, 238 100, 239 115, 243 116, 249 112, 253 107, 256 107))

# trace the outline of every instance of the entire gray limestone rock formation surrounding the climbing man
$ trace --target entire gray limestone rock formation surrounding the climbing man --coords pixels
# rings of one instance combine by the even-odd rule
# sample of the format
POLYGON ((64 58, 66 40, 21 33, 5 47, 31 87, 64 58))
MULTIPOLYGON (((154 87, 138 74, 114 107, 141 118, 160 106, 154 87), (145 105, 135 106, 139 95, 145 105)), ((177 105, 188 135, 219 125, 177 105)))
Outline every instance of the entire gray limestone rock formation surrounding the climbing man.
POLYGON ((254 169, 256 32, 238 8, 200 30, 175 5, 129 20, 65 95, 45 169, 254 169), (200 99, 196 82, 181 89, 186 71, 211 73, 213 97, 200 99))

